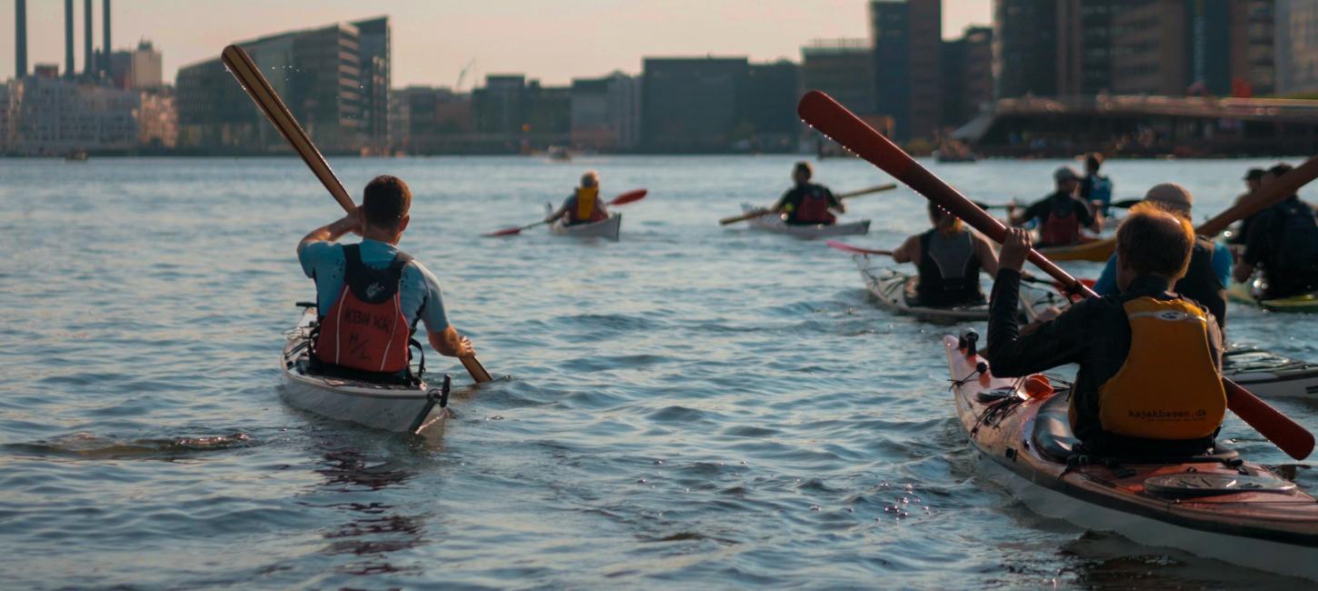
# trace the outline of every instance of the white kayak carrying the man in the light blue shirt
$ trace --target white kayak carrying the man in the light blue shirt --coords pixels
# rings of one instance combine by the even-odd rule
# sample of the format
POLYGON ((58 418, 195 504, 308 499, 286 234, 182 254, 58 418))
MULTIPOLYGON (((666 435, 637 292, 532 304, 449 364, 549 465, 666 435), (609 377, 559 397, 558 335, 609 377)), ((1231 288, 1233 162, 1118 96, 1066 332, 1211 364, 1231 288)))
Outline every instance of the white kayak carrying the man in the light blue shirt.
POLYGON ((279 364, 283 373, 281 394, 290 405, 386 431, 418 431, 447 416, 447 393, 428 388, 424 381, 387 385, 314 373, 308 361, 316 309, 304 307, 279 364), (436 402, 440 412, 432 413, 436 402))

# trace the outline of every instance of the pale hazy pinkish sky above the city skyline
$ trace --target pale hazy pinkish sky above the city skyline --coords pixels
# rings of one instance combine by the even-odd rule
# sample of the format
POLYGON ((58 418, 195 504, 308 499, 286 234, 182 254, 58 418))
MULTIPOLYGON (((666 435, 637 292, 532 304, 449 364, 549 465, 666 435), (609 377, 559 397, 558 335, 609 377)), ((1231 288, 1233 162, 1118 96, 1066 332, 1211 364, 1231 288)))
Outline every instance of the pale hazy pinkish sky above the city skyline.
MULTIPOLYGON (((942 34, 990 21, 990 0, 944 0, 942 34)), ((101 40, 94 0, 92 42, 101 40)), ((74 54, 83 69, 83 0, 74 1, 74 54)), ((111 41, 150 40, 166 80, 181 66, 219 57, 235 41, 387 15, 393 86, 471 88, 486 74, 546 84, 638 74, 643 55, 747 55, 800 61, 815 38, 869 37, 866 0, 112 0, 111 41)), ((0 0, 0 80, 14 74, 14 0, 0 0)), ((63 3, 28 0, 28 69, 63 70, 63 3)))

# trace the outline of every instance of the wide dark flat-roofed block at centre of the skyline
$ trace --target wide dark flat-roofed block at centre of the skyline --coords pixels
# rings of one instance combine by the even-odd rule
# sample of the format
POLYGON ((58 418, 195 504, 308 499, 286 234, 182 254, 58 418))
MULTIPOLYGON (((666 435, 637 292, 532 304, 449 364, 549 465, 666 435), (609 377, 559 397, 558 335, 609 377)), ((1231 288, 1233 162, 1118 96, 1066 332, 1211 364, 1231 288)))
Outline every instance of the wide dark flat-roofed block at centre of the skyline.
POLYGON ((746 58, 645 58, 641 137, 647 152, 717 153, 734 146, 750 63, 746 58))

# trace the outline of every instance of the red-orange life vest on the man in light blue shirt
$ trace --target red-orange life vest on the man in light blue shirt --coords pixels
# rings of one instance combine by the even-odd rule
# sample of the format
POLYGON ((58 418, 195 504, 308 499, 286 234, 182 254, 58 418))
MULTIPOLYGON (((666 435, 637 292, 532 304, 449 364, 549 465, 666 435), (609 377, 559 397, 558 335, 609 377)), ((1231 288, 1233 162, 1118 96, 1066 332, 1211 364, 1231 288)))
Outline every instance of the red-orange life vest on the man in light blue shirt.
POLYGON ((364 372, 406 369, 411 327, 398 292, 411 257, 399 252, 389 266, 373 269, 361 263, 360 244, 343 247, 343 292, 320 319, 316 359, 364 372))

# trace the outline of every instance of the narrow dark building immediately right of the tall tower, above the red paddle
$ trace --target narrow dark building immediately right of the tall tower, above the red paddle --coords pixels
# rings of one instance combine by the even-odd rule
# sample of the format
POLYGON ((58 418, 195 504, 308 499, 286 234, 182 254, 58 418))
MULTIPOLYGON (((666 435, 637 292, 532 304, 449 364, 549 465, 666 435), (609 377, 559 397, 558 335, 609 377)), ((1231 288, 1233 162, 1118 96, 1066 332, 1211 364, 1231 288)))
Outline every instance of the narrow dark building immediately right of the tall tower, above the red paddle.
POLYGON ((992 103, 992 29, 967 26, 942 42, 942 125, 961 127, 992 103))

